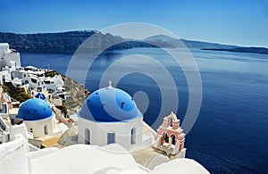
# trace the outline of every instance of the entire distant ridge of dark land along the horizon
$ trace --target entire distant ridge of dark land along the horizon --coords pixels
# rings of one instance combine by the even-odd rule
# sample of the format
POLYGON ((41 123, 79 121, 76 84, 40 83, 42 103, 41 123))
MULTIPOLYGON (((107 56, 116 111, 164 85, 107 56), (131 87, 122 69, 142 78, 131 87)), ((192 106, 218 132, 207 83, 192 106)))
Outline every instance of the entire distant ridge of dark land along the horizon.
POLYGON ((268 54, 268 49, 264 47, 229 46, 217 43, 179 39, 164 35, 147 37, 144 40, 135 40, 113 36, 109 33, 103 34, 97 30, 37 34, 0 32, 0 43, 9 43, 12 48, 18 50, 20 53, 73 54, 77 48, 91 36, 94 36, 94 39, 89 41, 87 43, 88 47, 85 47, 84 49, 102 49, 105 46, 110 46, 111 43, 118 43, 116 45, 112 44, 112 46, 108 49, 130 49, 134 47, 176 48, 187 46, 188 48, 211 51, 268 54))

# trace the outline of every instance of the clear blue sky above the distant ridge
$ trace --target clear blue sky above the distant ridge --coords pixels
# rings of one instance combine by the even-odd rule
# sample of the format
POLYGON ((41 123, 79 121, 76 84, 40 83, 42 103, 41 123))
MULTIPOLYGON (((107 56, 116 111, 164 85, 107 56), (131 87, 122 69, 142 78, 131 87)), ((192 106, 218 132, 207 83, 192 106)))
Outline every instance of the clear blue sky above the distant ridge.
POLYGON ((145 22, 189 40, 268 47, 268 0, 0 0, 0 7, 0 32, 145 22))

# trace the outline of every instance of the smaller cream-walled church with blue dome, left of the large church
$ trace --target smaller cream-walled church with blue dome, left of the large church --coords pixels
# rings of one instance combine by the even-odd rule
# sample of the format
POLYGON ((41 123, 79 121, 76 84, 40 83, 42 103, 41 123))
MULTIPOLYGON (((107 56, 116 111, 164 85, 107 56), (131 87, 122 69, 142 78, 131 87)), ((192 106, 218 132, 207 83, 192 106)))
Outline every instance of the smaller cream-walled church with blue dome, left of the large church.
POLYGON ((22 103, 16 118, 24 120, 28 131, 35 138, 62 135, 50 105, 40 98, 30 98, 22 103))

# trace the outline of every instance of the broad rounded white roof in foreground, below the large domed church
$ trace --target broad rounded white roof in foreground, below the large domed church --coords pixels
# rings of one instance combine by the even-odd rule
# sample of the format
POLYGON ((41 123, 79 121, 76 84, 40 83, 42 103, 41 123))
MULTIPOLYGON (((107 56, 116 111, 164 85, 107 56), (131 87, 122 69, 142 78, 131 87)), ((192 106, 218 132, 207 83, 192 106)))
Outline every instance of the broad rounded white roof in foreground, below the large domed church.
POLYGON ((58 152, 34 158, 31 165, 33 174, 105 173, 104 171, 120 173, 127 170, 145 173, 130 153, 121 145, 115 144, 105 147, 71 145, 58 152))

